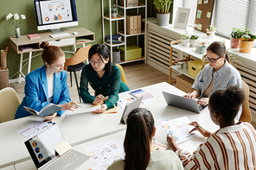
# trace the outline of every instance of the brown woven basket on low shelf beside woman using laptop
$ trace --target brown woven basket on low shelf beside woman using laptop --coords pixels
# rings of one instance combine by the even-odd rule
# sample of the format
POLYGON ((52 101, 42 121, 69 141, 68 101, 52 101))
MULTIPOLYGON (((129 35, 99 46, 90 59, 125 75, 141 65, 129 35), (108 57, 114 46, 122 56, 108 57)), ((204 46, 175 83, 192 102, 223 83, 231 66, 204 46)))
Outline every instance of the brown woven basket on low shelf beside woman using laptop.
POLYGON ((185 76, 184 74, 176 76, 176 88, 185 91, 186 93, 192 92, 191 86, 194 83, 194 79, 185 76))

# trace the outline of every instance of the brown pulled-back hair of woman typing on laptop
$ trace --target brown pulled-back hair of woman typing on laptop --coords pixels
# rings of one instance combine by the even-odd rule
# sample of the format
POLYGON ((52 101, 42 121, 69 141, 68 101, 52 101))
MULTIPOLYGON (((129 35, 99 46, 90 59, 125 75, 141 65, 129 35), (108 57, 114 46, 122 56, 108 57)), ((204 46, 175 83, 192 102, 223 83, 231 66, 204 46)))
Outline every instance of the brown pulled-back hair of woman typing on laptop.
POLYGON ((227 60, 228 63, 230 63, 230 60, 226 51, 226 46, 221 41, 214 41, 208 46, 207 50, 211 51, 214 54, 219 55, 220 57, 222 57, 225 54, 225 59, 227 60))

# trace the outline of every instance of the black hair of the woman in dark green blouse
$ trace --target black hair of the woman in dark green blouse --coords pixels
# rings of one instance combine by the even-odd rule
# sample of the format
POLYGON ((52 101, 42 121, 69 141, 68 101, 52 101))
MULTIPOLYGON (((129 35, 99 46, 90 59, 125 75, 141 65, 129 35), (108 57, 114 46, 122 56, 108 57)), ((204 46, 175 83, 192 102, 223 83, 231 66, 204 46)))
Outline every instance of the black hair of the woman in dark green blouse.
MULTIPOLYGON (((106 66, 104 70, 107 74, 112 74, 112 64, 111 64, 111 58, 110 58, 110 51, 108 47, 105 44, 95 44, 93 47, 89 50, 89 60, 93 57, 94 54, 98 54, 100 60, 104 62, 103 59, 109 59, 109 61, 106 63, 106 66)), ((93 72, 93 66, 89 64, 89 72, 93 72)))

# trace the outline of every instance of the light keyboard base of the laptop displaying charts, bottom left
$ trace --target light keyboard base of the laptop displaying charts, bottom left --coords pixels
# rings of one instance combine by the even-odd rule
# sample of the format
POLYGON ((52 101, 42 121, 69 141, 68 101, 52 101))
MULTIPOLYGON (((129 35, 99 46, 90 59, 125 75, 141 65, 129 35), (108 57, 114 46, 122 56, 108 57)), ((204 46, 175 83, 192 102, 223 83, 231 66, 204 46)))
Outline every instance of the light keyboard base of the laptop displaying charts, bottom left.
POLYGON ((80 165, 88 160, 90 157, 86 154, 81 154, 74 149, 71 149, 66 154, 62 155, 61 157, 57 157, 56 159, 49 161, 40 169, 43 170, 74 170, 80 165))

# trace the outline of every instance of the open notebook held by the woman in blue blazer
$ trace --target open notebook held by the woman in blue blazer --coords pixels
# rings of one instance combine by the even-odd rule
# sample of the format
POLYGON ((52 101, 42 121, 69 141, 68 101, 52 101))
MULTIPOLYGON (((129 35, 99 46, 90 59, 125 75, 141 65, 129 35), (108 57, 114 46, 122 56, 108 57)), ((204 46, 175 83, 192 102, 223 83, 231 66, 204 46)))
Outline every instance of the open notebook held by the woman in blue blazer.
POLYGON ((31 108, 26 107, 26 106, 23 106, 23 107, 27 111, 29 111, 29 113, 31 113, 33 115, 37 115, 37 116, 50 116, 50 115, 53 115, 55 112, 62 109, 60 106, 55 105, 55 104, 48 104, 47 106, 42 108, 42 110, 40 110, 40 111, 36 111, 36 110, 31 109, 31 108))

